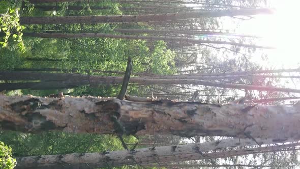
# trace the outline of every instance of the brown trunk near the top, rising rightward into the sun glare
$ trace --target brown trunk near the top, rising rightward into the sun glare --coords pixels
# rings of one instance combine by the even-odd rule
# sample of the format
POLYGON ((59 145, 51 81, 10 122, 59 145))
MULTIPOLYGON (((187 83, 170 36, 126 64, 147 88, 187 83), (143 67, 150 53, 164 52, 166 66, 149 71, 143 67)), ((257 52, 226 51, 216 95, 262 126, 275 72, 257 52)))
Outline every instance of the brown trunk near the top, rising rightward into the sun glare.
POLYGON ((272 14, 269 9, 243 9, 211 12, 186 12, 149 15, 120 15, 120 16, 60 16, 60 17, 20 17, 20 24, 73 24, 73 23, 122 23, 167 21, 203 17, 239 16, 272 14))

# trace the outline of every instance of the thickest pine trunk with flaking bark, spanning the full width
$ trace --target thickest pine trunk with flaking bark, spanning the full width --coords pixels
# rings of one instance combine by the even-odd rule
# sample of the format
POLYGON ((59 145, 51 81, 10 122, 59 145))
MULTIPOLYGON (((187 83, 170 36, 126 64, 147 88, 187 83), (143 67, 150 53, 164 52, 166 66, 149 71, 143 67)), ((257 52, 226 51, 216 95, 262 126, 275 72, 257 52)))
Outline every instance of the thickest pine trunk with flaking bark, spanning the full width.
POLYGON ((235 136, 240 138, 300 139, 300 105, 249 107, 241 104, 132 102, 97 97, 41 98, 0 96, 0 124, 4 130, 76 133, 174 134, 235 136))

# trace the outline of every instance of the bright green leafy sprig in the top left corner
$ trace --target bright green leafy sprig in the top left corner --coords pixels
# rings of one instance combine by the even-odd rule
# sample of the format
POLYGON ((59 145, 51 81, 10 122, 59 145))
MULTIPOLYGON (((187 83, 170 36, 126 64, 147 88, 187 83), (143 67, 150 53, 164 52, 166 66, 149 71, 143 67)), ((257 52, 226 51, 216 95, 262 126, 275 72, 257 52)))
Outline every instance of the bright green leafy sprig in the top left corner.
POLYGON ((8 1, 0 2, 0 45, 7 47, 9 38, 12 37, 17 42, 19 49, 24 52, 22 31, 25 27, 19 23, 19 10, 19 8, 11 7, 8 1))

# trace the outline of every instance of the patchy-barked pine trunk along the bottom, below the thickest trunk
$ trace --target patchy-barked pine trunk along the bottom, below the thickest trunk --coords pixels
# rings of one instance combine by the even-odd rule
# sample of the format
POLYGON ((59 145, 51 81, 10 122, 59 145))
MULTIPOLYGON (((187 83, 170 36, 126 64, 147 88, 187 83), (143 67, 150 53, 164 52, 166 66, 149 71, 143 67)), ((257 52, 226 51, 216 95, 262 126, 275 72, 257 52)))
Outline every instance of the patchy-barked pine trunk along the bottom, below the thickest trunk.
MULTIPOLYGON (((243 140, 242 140, 243 142, 243 140)), ((247 141, 248 142, 248 141, 247 141)), ((250 145, 253 144, 248 142, 250 145)), ((16 168, 96 168, 114 167, 130 164, 151 164, 159 162, 178 162, 186 160, 199 160, 207 158, 232 157, 263 153, 268 151, 280 151, 299 146, 300 143, 269 146, 231 151, 208 152, 219 150, 221 142, 208 142, 202 144, 162 146, 155 148, 136 149, 135 151, 111 151, 103 153, 44 155, 17 158, 16 168), (204 153, 203 153, 204 152, 204 153)), ((239 142, 229 143, 232 147, 239 146, 239 142), (234 145, 235 143, 235 145, 234 145)), ((228 146, 226 145, 226 146, 228 146)))

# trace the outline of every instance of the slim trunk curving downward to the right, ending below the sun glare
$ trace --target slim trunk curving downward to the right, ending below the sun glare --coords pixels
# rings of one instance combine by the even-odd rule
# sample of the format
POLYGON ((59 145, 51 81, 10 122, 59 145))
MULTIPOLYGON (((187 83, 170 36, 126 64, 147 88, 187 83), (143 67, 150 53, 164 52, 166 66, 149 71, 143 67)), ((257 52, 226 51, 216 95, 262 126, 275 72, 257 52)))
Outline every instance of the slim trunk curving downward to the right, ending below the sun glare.
POLYGON ((211 41, 211 40, 198 40, 189 38, 178 38, 178 37, 157 37, 157 36, 132 36, 132 35, 113 35, 113 34, 102 34, 102 33, 81 33, 81 34, 64 34, 64 33, 23 33, 23 36, 28 37, 40 37, 40 38, 114 38, 114 39, 143 39, 143 40, 163 40, 163 41, 174 41, 174 42, 189 42, 195 44, 210 43, 210 44, 222 44, 222 45, 235 45, 251 48, 264 48, 274 49, 271 46, 258 46, 249 45, 228 41, 211 41))

